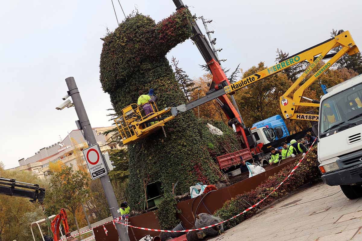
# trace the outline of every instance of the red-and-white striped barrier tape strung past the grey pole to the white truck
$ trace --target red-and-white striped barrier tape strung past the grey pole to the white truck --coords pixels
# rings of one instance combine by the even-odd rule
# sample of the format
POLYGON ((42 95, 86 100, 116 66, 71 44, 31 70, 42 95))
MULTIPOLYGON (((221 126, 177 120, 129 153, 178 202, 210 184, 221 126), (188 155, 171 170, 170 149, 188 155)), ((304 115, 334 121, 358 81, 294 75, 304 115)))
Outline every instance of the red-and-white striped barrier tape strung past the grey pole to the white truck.
MULTIPOLYGON (((315 141, 317 140, 317 138, 313 141, 312 145, 314 145, 315 141)), ((219 225, 219 224, 222 224, 222 223, 225 223, 231 219, 234 219, 238 216, 240 216, 241 214, 244 214, 245 212, 249 211, 249 210, 252 210, 254 207, 258 206, 261 202, 263 202, 265 199, 267 199, 272 193, 274 193, 291 175, 293 175, 294 171, 299 167, 300 163, 303 162, 304 158, 307 156, 308 152, 311 150, 311 147, 307 150, 306 152, 306 155, 304 155, 302 157, 302 159, 300 159, 300 161, 296 164, 296 166, 291 170, 291 172, 289 173, 289 175, 273 190, 271 191, 271 193, 269 193, 265 198, 261 199, 259 202, 255 203, 253 206, 251 207, 248 207, 247 209, 245 209, 243 212, 240 212, 240 214, 237 214, 235 216, 233 216, 232 218, 230 219, 227 219, 225 221, 221 221, 220 223, 216 223, 216 224, 212 224, 212 225, 209 225, 209 226, 206 226, 206 227, 203 227, 203 228, 196 228, 196 229, 186 229, 186 230, 180 230, 180 231, 173 231, 173 230, 163 230, 163 229, 152 229, 152 228, 141 228, 141 227, 135 227, 135 226, 132 226, 130 224, 125 224, 125 223, 121 223, 119 222, 119 220, 122 220, 122 216, 121 217, 118 217, 117 219, 113 219, 109 222, 106 222, 106 223, 110 223, 110 222, 113 222, 113 225, 114 225, 114 228, 115 228, 115 223, 119 223, 119 224, 122 224, 122 225, 125 225, 125 226, 128 226, 128 227, 131 227, 131 228, 137 228, 137 229, 142 229, 142 230, 147 230, 147 231, 156 231, 156 232, 168 232, 168 233, 182 233, 182 232, 191 232, 191 231, 197 231, 197 230, 203 230, 203 229, 207 229, 207 228, 211 228, 211 227, 215 227, 216 225, 219 225)), ((106 224, 104 223, 104 224, 106 224)), ((97 228, 97 227, 100 227, 104 224, 101 224, 101 225, 98 225, 96 227, 93 227, 93 228, 97 228)), ((91 228, 91 229, 93 229, 91 228)), ((103 228, 105 229, 105 227, 103 226, 103 228)), ((87 229, 83 232, 80 232, 80 233, 77 233, 77 234, 81 234, 81 233, 84 233, 84 232, 87 232, 91 229, 87 229)), ((106 229, 105 229, 106 231, 106 229)), ((108 231, 107 231, 108 232, 108 231)), ((106 235, 107 235, 107 232, 106 232, 106 235)), ((77 234, 74 234, 72 235, 71 237, 77 235, 77 234)), ((61 239, 60 241, 64 241, 66 240, 66 238, 63 238, 61 239)))

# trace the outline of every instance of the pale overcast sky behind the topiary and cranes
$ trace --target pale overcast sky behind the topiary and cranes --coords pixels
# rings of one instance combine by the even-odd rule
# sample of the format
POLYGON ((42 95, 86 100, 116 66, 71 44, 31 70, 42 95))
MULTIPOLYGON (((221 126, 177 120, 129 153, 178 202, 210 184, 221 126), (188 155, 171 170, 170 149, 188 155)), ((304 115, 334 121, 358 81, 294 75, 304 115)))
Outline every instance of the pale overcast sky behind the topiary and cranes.
MULTIPOLYGON (((119 21, 124 19, 114 0, 119 21)), ((126 15, 138 9, 156 22, 175 9, 172 0, 120 0, 126 15)), ((332 28, 350 30, 362 49, 360 0, 184 0, 197 16, 212 18, 223 65, 247 70, 259 61, 270 66, 275 50, 294 54, 329 38, 332 28)), ((93 127, 109 126, 109 95, 99 82, 99 59, 106 28, 117 27, 111 0, 12 0, 0 10, 1 134, 0 160, 18 166, 39 149, 76 129, 74 108, 57 111, 66 94, 65 78, 73 76, 93 127)), ((202 23, 199 22, 203 30, 202 23)), ((190 40, 170 53, 196 78, 203 59, 190 40)))

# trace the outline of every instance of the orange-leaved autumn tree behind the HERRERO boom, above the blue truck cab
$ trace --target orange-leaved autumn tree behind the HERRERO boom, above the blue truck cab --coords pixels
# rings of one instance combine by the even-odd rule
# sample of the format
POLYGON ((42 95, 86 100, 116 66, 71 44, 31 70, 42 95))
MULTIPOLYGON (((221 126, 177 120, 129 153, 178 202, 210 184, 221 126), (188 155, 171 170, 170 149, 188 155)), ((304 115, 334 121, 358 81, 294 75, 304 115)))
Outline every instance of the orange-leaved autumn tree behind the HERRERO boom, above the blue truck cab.
MULTIPOLYGON (((243 78, 265 68, 264 62, 260 62, 244 72, 243 78)), ((254 122, 280 115, 279 97, 291 85, 292 82, 285 73, 277 73, 237 91, 234 96, 245 125, 252 126, 254 122)))

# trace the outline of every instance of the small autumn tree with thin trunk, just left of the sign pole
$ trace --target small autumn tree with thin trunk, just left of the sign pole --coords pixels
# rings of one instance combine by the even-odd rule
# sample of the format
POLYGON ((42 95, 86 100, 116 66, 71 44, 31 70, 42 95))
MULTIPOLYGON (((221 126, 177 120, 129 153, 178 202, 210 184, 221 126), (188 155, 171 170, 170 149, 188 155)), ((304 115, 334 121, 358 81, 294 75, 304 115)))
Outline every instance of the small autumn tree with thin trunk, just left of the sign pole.
POLYGON ((56 213, 63 207, 71 212, 78 232, 76 212, 89 200, 89 181, 88 173, 75 171, 72 165, 64 165, 60 172, 52 172, 50 175, 50 189, 47 190, 45 201, 47 210, 56 213))

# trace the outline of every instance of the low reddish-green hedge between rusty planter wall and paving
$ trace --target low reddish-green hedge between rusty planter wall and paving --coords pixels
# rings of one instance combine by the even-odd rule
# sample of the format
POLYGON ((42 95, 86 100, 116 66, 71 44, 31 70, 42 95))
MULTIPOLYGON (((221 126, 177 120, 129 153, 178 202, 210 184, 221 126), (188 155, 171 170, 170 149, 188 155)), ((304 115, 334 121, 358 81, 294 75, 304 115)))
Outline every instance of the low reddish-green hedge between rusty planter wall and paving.
MULTIPOLYGON (((302 156, 300 156, 302 158, 302 156)), ((215 212, 215 215, 218 215, 223 220, 227 220, 241 212, 245 209, 259 202, 261 199, 265 198, 271 191, 274 190, 291 172, 299 160, 293 164, 284 167, 281 171, 276 173, 273 176, 270 176, 265 182, 260 184, 255 190, 251 190, 247 193, 237 195, 235 198, 224 203, 223 207, 215 212)), ((308 183, 315 182, 320 180, 320 171, 318 168, 317 161, 317 149, 313 148, 308 152, 307 158, 299 165, 299 167, 294 171, 294 174, 291 175, 273 194, 271 194, 267 199, 260 203, 257 207, 262 208, 278 198, 281 198, 283 195, 291 193, 300 186, 308 183)), ((224 223, 224 228, 229 229, 237 224, 241 223, 247 218, 250 218, 256 213, 256 209, 245 212, 238 216, 235 219, 227 221, 224 223)))

